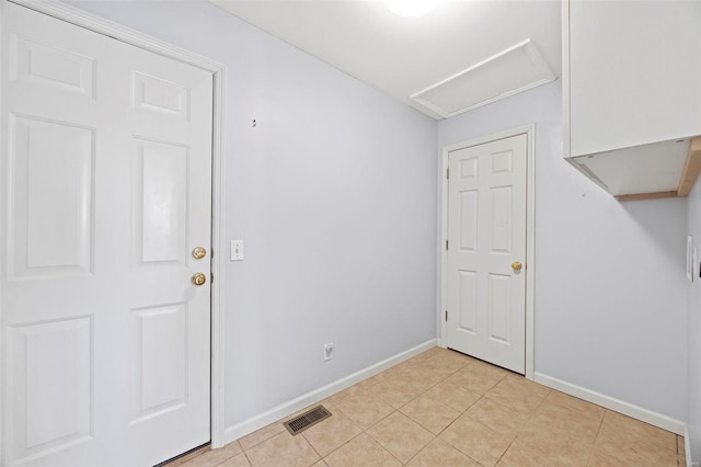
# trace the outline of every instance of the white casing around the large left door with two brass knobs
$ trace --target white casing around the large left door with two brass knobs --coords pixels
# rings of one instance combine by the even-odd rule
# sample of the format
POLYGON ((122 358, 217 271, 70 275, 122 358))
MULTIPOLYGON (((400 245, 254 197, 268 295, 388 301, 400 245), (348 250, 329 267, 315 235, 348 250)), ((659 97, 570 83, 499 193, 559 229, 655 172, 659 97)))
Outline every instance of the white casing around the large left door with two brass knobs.
MULTIPOLYGON (((211 134, 211 272, 215 281, 211 282, 211 304, 210 304, 210 437, 211 447, 221 447, 225 444, 225 295, 221 285, 225 283, 225 173, 226 173, 226 83, 227 67, 220 62, 210 60, 198 54, 191 53, 181 47, 166 42, 153 38, 147 34, 131 30, 110 20, 105 20, 76 7, 58 2, 42 0, 0 0, 0 24, 4 14, 4 5, 14 3, 26 7, 39 13, 47 14, 58 20, 74 24, 77 26, 93 31, 135 47, 148 50, 166 58, 172 58, 197 68, 204 69, 212 75, 212 134, 211 134), (216 254, 215 254, 216 253, 216 254)), ((0 90, 0 99, 3 99, 0 90)), ((4 144, 4 141, 0 141, 4 144)), ((4 232, 0 232, 2 239, 4 232)), ((2 241, 2 240, 0 240, 2 241)), ((1 243, 0 243, 1 244, 1 243)), ((1 293, 1 291, 0 291, 1 293)), ((0 330, 2 314, 0 312, 0 330)), ((3 332, 0 332, 0 349, 4 345, 3 332)), ((0 420, 7 407, 4 407, 4 368, 0 371, 0 420)), ((0 424, 0 443, 4 440, 4 433, 0 424)), ((196 446, 192 446, 196 447, 196 446)))

